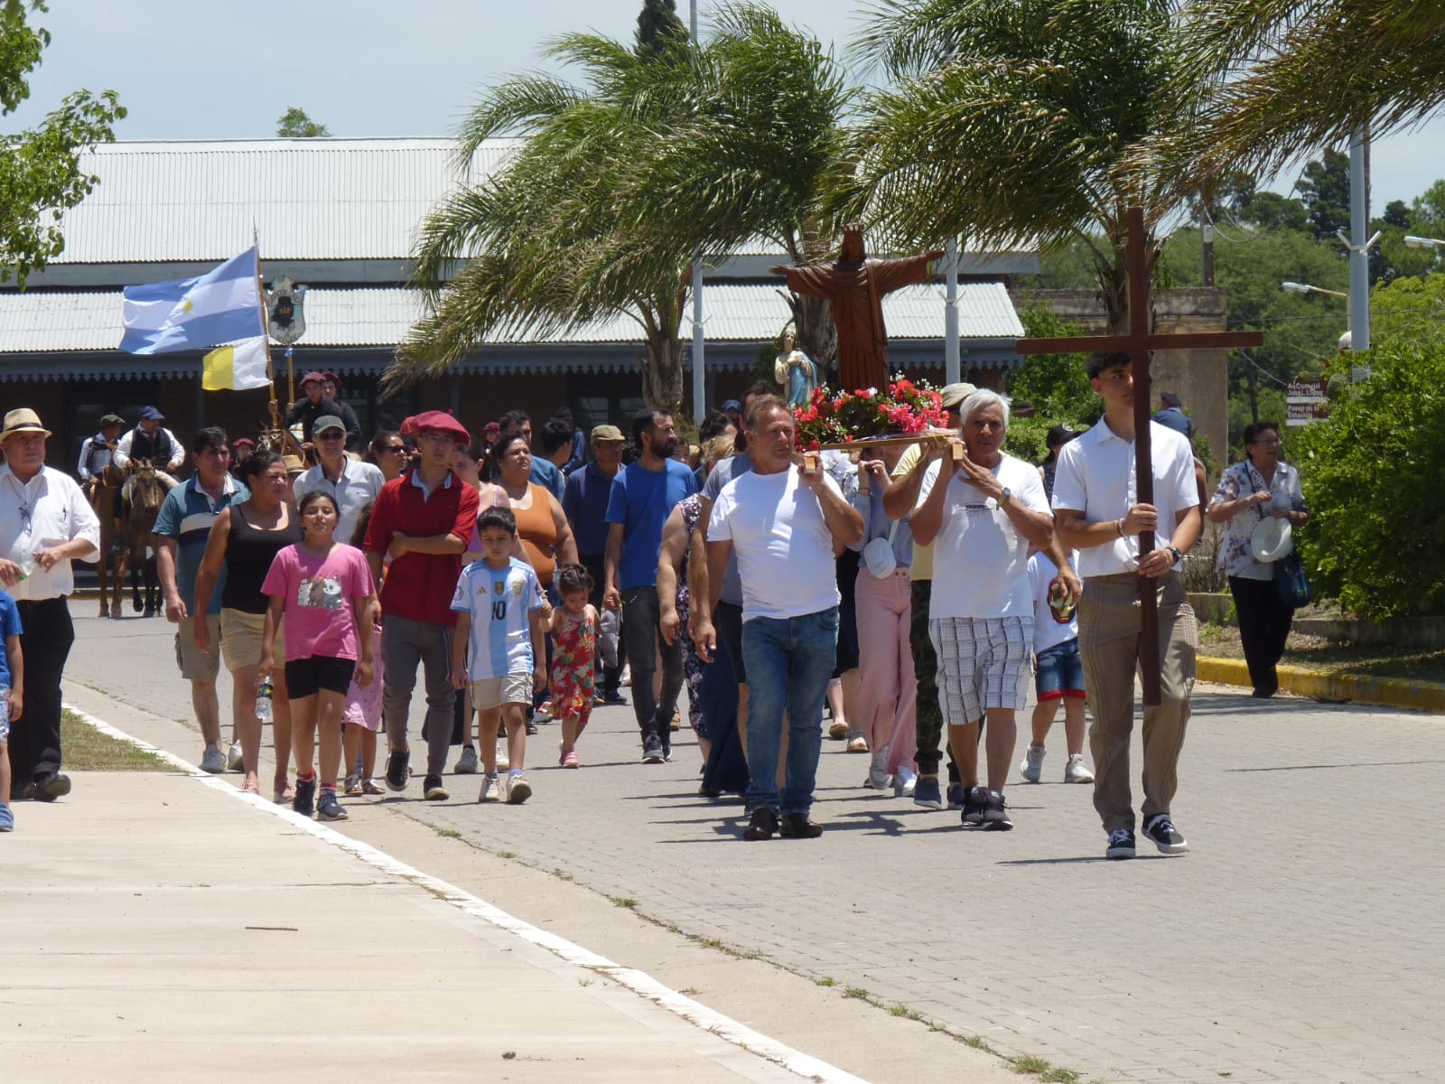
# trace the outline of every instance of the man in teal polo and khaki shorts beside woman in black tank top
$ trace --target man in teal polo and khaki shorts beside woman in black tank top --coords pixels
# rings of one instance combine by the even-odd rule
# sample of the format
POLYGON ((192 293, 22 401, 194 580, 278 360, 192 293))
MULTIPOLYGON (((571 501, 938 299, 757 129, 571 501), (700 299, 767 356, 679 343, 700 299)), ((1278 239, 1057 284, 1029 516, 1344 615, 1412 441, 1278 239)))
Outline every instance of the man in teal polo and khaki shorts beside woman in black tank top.
MULTIPOLYGON (((195 577, 205 556, 205 539, 211 525, 230 507, 250 493, 231 477, 231 447, 224 429, 201 429, 191 439, 191 460, 195 474, 185 484, 166 494, 160 513, 156 516, 156 538, 160 541, 156 554, 156 569, 160 574, 160 590, 166 598, 166 620, 176 624, 176 663, 181 676, 191 682, 191 707, 205 750, 201 753, 201 769, 224 772, 227 757, 221 753, 221 707, 215 698, 215 675, 221 672, 221 587, 225 571, 211 591, 211 604, 204 614, 195 610, 195 577), (204 620, 211 630, 211 650, 195 646, 192 627, 204 620)), ((238 770, 241 752, 236 743, 234 720, 231 723, 231 763, 238 770)))

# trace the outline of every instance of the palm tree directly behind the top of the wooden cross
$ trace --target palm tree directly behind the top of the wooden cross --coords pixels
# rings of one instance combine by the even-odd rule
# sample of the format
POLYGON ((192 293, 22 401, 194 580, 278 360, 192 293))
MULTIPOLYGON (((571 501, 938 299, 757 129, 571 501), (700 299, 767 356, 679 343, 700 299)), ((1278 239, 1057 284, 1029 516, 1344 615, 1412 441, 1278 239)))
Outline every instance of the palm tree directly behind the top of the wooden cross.
POLYGON ((1152 269, 1183 198, 1130 153, 1186 120, 1170 16, 1166 0, 876 0, 855 48, 896 85, 867 103, 844 207, 897 247, 1078 241, 1124 330, 1127 208, 1144 208, 1152 269))

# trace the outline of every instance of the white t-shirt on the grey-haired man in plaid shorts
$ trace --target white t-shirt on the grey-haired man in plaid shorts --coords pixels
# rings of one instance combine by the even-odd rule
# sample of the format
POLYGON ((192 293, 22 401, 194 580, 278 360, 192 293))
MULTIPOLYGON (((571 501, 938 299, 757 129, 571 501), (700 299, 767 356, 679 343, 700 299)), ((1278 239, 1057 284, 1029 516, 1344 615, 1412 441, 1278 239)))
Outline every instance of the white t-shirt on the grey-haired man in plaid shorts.
MULTIPOLYGON (((939 460, 928 465, 915 512, 938 484, 942 464, 939 460)), ((1049 513, 1043 480, 1032 464, 1003 452, 993 474, 1009 489, 1010 500, 1030 512, 1049 513)), ((933 538, 933 593, 928 616, 1032 617, 1029 539, 1019 533, 993 497, 964 477, 955 471, 948 480, 944 519, 933 538)))

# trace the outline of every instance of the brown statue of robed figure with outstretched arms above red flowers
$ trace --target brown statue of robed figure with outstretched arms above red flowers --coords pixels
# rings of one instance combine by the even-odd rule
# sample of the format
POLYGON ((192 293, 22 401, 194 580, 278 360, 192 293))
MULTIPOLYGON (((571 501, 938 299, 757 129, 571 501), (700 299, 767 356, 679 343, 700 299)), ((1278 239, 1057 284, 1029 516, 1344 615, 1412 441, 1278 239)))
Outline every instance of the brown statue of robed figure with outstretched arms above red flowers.
POLYGON ((863 249, 863 227, 842 231, 842 251, 832 263, 805 267, 770 267, 788 279, 788 289, 832 302, 838 325, 838 390, 887 387, 889 332, 883 327, 883 295, 928 280, 928 266, 942 259, 936 249, 922 256, 870 260, 863 249))

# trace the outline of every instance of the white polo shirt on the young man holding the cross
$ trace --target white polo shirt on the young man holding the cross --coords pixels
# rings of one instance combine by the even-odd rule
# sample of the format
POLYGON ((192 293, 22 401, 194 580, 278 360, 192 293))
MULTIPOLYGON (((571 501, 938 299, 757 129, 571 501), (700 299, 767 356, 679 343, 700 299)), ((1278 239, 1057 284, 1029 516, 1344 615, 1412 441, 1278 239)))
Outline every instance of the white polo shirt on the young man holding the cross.
MULTIPOLYGON (((1155 509, 1159 526, 1156 545, 1169 545, 1175 522, 1185 509, 1198 506, 1199 487, 1194 480, 1194 451, 1182 434, 1149 423, 1150 460, 1155 474, 1155 509)), ((1098 423, 1059 448, 1053 471, 1053 507, 1082 512, 1087 523, 1113 523, 1139 503, 1134 478, 1134 442, 1126 441, 1098 423)), ((1139 536, 1114 538, 1101 546, 1078 551, 1079 575, 1116 575, 1139 569, 1139 536)), ((1178 568, 1178 565, 1175 565, 1178 568)))

